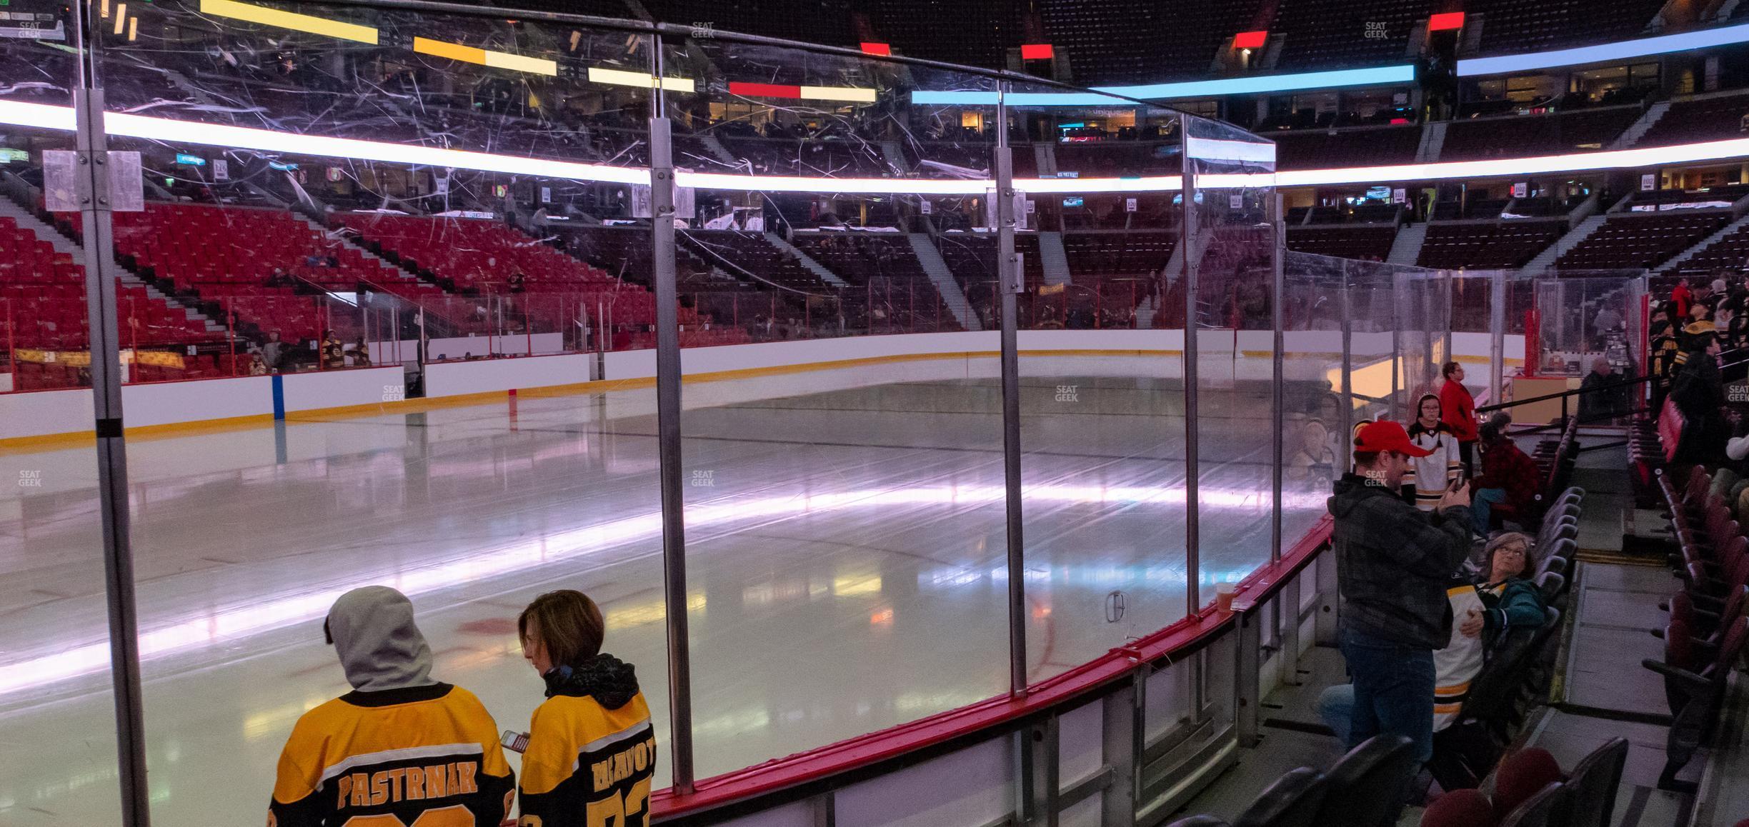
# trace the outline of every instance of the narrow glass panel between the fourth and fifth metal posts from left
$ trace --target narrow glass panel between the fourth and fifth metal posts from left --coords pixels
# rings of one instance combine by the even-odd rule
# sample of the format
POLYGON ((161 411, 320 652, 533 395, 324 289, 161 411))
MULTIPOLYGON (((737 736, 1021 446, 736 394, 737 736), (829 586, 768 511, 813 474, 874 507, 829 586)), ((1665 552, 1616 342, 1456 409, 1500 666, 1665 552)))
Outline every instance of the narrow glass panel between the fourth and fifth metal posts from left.
MULTIPOLYGON (((1275 143, 1186 119, 1196 336, 1198 607, 1270 561, 1275 509, 1275 143)), ((1284 353, 1286 371, 1286 353, 1284 353)), ((1294 537, 1282 537, 1291 544, 1294 537)), ((1224 671, 1224 670, 1219 670, 1224 671)))

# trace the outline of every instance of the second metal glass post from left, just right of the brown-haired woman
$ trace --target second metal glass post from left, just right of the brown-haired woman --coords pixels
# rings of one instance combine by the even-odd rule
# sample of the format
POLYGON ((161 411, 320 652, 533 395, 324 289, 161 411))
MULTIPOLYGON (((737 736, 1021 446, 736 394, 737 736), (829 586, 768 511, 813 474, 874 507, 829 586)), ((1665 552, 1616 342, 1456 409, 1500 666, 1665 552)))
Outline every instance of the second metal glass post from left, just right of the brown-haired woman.
MULTIPOLYGON (((652 44, 663 77, 659 42, 652 44)), ((661 463, 663 605, 673 789, 693 792, 693 677, 686 629, 686 495, 680 488, 680 325, 673 275, 673 138, 665 94, 651 93, 651 269, 656 281, 656 448, 661 463)))

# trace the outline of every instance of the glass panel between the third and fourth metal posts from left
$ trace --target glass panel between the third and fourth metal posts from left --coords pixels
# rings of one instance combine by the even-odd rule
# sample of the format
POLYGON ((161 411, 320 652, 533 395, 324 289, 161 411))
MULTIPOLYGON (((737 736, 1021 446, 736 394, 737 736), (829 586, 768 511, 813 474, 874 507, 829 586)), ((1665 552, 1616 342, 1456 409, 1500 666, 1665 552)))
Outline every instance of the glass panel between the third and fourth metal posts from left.
POLYGON ((1182 332, 1161 316, 1182 140, 1181 115, 1160 107, 1077 105, 1044 84, 1011 98, 1037 682, 1184 617, 1182 332))

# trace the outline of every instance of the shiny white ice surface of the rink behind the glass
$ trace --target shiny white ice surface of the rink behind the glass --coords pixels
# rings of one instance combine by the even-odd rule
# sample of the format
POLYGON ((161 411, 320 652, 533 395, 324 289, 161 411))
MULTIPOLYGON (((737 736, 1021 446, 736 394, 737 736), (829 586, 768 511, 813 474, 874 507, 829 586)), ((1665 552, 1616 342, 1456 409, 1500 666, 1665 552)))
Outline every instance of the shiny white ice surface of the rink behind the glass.
MULTIPOLYGON (((1021 362, 1034 680, 1186 612, 1182 381, 1111 362, 1021 362)), ((686 386, 700 776, 1007 689, 995 360, 901 367, 686 386)), ((1307 411, 1326 365, 1289 367, 1286 409, 1307 411)), ((1270 386, 1226 385, 1200 395, 1205 584, 1268 559, 1270 386)), ((434 675, 500 729, 542 699, 516 614, 589 593, 666 741, 652 409, 635 388, 129 441, 159 824, 261 820, 292 722, 350 689, 322 615, 374 582, 413 598, 434 675)), ((21 481, 0 493, 0 824, 112 824, 94 453, 0 474, 21 481)), ((1287 483, 1287 542, 1326 490, 1287 483)))

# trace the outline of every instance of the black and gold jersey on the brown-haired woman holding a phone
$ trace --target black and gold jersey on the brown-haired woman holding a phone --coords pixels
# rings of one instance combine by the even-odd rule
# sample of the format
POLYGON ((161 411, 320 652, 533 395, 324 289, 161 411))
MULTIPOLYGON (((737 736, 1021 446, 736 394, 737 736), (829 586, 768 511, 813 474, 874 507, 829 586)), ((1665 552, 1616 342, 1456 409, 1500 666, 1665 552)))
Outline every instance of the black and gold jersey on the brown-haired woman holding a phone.
POLYGON ((521 827, 645 827, 656 733, 631 666, 596 656, 547 675, 523 754, 521 827))

